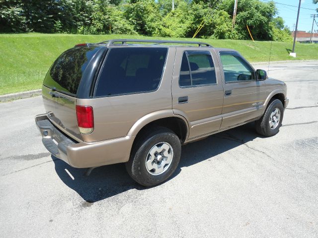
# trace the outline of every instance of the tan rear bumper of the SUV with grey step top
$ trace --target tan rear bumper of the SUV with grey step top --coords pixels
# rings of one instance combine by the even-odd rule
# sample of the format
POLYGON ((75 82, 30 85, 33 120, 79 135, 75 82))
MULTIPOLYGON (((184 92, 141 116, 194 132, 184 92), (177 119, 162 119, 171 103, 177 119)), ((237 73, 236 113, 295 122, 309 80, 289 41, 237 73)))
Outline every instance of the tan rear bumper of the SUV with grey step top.
POLYGON ((77 142, 59 130, 46 114, 35 116, 42 143, 55 157, 76 168, 90 168, 127 162, 132 136, 98 142, 77 142))

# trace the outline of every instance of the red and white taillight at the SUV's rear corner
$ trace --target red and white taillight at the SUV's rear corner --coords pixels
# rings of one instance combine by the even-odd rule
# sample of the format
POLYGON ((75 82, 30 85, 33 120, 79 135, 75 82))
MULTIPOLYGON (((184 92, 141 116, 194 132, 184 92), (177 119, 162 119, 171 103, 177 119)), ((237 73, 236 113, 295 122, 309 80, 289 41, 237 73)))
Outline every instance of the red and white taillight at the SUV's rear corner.
POLYGON ((76 117, 78 118, 79 132, 89 134, 94 129, 93 108, 90 106, 76 106, 76 117))

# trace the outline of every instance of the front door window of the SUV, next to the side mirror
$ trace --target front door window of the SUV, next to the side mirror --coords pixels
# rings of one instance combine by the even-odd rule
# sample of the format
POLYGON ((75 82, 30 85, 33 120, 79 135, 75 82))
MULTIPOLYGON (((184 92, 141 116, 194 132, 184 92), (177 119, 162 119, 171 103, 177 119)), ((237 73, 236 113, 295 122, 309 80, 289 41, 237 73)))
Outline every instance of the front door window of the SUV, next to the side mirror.
POLYGON ((246 81, 254 79, 254 72, 246 62, 237 55, 221 53, 225 82, 246 81))

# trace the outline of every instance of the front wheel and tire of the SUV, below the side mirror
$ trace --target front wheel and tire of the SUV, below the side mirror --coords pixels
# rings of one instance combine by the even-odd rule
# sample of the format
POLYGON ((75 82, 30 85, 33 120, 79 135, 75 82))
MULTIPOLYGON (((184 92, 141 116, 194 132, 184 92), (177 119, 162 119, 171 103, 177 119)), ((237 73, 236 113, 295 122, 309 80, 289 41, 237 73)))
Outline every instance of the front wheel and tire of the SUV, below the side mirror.
POLYGON ((280 100, 274 99, 269 102, 264 115, 255 121, 257 133, 263 136, 273 136, 279 132, 284 116, 284 107, 280 100))

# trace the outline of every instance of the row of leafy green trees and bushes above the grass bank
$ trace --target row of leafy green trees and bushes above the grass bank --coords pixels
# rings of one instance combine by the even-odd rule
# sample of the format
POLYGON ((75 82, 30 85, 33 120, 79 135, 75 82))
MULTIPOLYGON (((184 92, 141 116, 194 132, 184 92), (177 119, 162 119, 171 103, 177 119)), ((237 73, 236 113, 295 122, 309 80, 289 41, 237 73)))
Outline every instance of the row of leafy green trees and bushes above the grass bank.
MULTIPOLYGON (((318 0, 313 0, 318 2, 318 0)), ((2 32, 141 34, 163 37, 289 40, 273 1, 239 0, 0 0, 2 32), (275 17, 275 18, 274 18, 275 17), (201 25, 202 26, 202 25, 201 25)))

